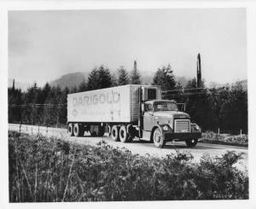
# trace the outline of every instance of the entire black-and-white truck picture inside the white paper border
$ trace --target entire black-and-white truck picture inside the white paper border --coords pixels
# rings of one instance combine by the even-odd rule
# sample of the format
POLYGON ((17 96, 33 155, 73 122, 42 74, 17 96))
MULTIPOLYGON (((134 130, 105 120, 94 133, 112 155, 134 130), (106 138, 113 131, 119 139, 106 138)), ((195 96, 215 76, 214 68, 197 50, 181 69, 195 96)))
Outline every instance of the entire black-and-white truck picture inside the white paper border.
POLYGON ((250 200, 247 12, 8 9, 9 203, 250 200))

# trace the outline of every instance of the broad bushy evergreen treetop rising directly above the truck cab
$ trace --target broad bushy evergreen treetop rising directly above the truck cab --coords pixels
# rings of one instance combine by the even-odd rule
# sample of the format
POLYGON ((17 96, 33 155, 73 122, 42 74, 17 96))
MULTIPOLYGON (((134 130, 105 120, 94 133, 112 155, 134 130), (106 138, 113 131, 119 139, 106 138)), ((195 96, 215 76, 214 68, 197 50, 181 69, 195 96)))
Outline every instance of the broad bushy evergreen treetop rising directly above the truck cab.
POLYGON ((171 65, 159 68, 154 74, 152 84, 160 85, 161 90, 175 90, 176 80, 171 65))

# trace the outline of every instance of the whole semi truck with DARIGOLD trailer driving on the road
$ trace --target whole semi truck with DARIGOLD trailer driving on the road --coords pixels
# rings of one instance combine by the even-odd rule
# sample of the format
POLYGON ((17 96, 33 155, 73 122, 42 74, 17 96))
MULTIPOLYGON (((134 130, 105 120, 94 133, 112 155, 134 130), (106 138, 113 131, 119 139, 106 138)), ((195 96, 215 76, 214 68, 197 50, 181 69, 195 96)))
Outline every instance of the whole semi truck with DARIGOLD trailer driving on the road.
POLYGON ((195 147, 201 128, 188 113, 180 112, 177 102, 163 100, 160 86, 127 84, 101 90, 67 95, 67 132, 69 136, 108 134, 113 141, 183 141, 195 147))

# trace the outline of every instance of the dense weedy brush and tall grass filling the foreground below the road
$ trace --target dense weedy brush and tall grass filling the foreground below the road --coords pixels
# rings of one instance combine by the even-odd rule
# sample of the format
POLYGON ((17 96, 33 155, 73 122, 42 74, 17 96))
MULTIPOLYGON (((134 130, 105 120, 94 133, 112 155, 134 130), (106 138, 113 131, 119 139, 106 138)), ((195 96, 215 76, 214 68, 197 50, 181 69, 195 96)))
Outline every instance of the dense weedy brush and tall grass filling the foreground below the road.
POLYGON ((100 142, 96 148, 9 132, 9 201, 234 200, 248 198, 241 154, 158 159, 100 142))

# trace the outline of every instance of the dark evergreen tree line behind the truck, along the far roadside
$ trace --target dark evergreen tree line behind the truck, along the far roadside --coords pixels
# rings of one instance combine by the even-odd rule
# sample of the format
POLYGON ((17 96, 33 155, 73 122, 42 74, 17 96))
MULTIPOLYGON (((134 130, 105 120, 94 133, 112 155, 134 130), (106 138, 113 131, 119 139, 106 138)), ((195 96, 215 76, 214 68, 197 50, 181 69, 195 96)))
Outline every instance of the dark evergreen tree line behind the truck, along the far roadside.
MULTIPOLYGON (((95 67, 86 80, 71 89, 66 87, 61 90, 59 86, 50 86, 48 83, 38 87, 35 83, 26 92, 21 92, 14 85, 8 89, 9 123, 66 125, 67 94, 124 84, 142 84, 137 67, 131 72, 119 67, 116 75, 108 67, 95 67)), ((247 133, 247 90, 240 82, 205 88, 202 81, 201 89, 198 89, 196 79, 193 78, 183 86, 177 81, 172 67, 167 65, 157 69, 152 84, 161 86, 164 99, 185 103, 185 111, 204 131, 217 131, 220 128, 234 134, 240 130, 247 133)))

